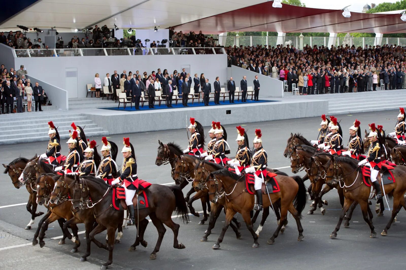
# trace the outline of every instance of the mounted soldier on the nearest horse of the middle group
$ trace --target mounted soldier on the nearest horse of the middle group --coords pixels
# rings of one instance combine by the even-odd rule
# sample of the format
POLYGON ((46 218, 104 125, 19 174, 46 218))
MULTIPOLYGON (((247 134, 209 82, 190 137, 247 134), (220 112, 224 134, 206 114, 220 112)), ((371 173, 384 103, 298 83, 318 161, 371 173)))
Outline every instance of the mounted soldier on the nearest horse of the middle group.
POLYGON ((266 166, 268 161, 268 155, 262 148, 262 133, 260 129, 255 129, 255 139, 254 139, 254 152, 251 160, 251 167, 245 169, 246 173, 254 173, 255 183, 254 189, 257 193, 257 207, 254 210, 262 210, 262 192, 261 187, 264 178, 266 177, 266 166))

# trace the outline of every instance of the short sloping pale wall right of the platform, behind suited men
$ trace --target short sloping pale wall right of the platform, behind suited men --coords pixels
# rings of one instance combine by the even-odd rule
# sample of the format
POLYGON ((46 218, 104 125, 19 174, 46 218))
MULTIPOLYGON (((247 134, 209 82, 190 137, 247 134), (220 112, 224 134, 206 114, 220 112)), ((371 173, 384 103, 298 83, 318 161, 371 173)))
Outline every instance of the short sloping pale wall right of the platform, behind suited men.
MULTIPOLYGON (((242 76, 247 76, 248 86, 254 86, 255 75, 258 75, 259 84, 261 85, 259 90, 259 97, 261 96, 272 96, 272 97, 283 97, 283 81, 274 79, 265 75, 260 75, 256 72, 249 71, 248 69, 243 69, 238 66, 231 66, 231 77, 235 81, 241 81, 242 76)), ((229 78, 227 78, 229 79, 229 78)))

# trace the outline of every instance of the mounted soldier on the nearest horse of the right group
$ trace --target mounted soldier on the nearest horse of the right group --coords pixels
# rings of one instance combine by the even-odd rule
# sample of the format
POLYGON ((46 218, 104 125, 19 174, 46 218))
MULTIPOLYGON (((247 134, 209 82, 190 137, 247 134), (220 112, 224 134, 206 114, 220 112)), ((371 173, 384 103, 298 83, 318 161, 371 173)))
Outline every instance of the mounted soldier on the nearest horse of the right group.
POLYGON ((382 155, 382 145, 379 143, 378 132, 375 128, 375 123, 369 124, 369 129, 371 132, 368 135, 369 144, 367 157, 358 163, 358 166, 366 165, 371 168, 371 182, 374 184, 376 189, 376 199, 382 198, 382 191, 380 189, 378 179, 376 178, 379 174, 380 168, 382 167, 381 155, 382 155))

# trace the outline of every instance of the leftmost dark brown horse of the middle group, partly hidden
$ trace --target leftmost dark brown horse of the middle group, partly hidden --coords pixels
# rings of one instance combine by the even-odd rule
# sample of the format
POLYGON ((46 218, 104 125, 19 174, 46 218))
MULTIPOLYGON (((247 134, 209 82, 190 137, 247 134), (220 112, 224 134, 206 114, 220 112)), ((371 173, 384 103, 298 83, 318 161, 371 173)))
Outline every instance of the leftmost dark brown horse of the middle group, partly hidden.
MULTIPOLYGON (((181 189, 184 189, 184 187, 187 186, 187 184, 190 182, 190 180, 189 180, 190 178, 188 178, 188 180, 186 180, 185 177, 181 176, 179 178, 179 177, 174 176, 175 161, 178 156, 184 155, 183 151, 177 144, 175 144, 173 142, 169 142, 168 144, 162 144, 162 142, 160 140, 158 140, 158 143, 159 143, 158 154, 155 159, 155 165, 161 166, 161 165, 166 165, 169 163, 171 165, 171 176, 172 176, 173 180, 175 180, 175 183, 178 184, 181 187, 181 189)), ((190 191, 188 191, 188 193, 186 194, 185 199, 187 202, 190 199, 190 195, 192 195, 192 193, 194 193, 194 192, 195 192, 195 189, 192 186, 190 191)), ((208 210, 208 212, 211 211, 209 197, 207 196, 205 198, 201 198, 201 203, 202 203, 204 215, 207 216, 206 211, 207 210, 208 210), (206 208, 206 204, 207 204, 207 208, 206 208)), ((192 210, 190 210, 190 211, 192 212, 192 210)), ((197 214, 199 214, 199 213, 197 213, 197 214)), ((199 215, 198 215, 198 217, 199 217, 199 215)), ((201 224, 204 224, 204 222, 201 224)))

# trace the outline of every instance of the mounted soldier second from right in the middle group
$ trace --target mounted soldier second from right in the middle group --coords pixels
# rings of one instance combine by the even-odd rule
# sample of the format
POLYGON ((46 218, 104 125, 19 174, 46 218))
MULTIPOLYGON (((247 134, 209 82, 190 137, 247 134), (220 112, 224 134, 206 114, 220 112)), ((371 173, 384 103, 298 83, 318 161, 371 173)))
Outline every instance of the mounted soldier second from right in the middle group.
POLYGON ((246 167, 251 165, 251 151, 248 146, 248 136, 245 129, 237 126, 237 144, 238 150, 235 159, 227 161, 230 166, 235 168, 235 173, 240 175, 246 167))

